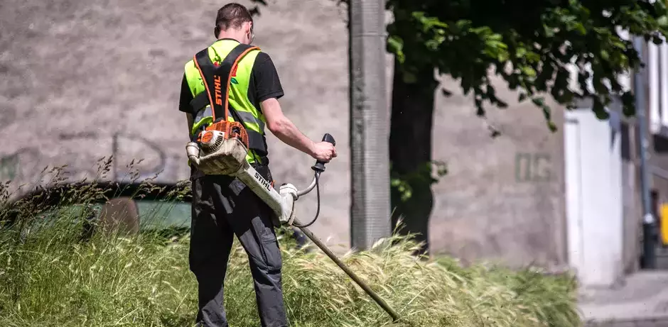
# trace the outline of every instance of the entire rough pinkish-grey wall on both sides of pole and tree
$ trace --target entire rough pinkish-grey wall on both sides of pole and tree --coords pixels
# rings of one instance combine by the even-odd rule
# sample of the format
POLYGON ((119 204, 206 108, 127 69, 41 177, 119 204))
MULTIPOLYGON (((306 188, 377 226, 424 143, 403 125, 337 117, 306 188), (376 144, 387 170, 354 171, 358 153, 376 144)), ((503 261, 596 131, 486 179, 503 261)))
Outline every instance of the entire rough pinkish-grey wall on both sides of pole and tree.
MULTIPOLYGON (((271 3, 257 18, 256 43, 274 58, 286 114, 308 137, 331 133, 337 140, 339 156, 321 179, 323 207, 313 231, 348 246, 348 35, 345 7, 334 3, 271 3)), ((114 135, 119 177, 134 157, 146 158, 140 168, 147 176, 164 170, 164 181, 187 177, 185 117, 177 111, 183 64, 212 42, 222 4, 2 1, 2 179, 29 182, 45 165, 65 163, 79 175, 92 174, 97 158, 114 153, 114 135)), ((540 109, 514 104, 517 94, 497 84, 511 106, 490 109, 490 122, 503 133, 492 139, 470 96, 450 79, 443 84, 454 94, 437 92, 433 135, 442 141, 433 157, 448 162, 450 174, 433 188, 433 250, 465 261, 566 262, 561 131, 550 133, 540 109)), ((553 109, 562 126, 561 109, 553 109)), ((313 159, 268 138, 277 182, 306 184, 313 159)), ((315 205, 314 196, 299 201, 298 214, 309 218, 315 205)))

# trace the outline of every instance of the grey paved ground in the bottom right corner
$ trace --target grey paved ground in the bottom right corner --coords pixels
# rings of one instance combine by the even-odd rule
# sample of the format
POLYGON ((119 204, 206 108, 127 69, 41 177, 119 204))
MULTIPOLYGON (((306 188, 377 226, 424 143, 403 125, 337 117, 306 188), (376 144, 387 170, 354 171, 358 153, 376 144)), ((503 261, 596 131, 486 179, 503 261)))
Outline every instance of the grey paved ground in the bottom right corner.
POLYGON ((585 326, 668 327, 668 270, 638 272, 613 289, 584 289, 585 326))

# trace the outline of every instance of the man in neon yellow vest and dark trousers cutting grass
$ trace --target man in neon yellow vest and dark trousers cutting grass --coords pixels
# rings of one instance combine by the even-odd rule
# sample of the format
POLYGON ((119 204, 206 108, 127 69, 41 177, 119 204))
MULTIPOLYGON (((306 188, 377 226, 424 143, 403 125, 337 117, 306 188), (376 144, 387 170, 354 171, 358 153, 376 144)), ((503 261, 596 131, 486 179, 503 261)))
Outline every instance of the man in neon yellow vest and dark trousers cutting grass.
MULTIPOLYGON (((218 69, 220 74, 227 67, 229 76, 216 81, 225 84, 227 77, 230 80, 228 120, 242 122, 247 130, 247 160, 260 174, 272 180, 266 157, 265 125, 284 143, 316 160, 329 162, 336 157, 334 146, 313 142, 284 116, 278 101, 284 95, 279 76, 269 55, 250 46, 253 31, 249 11, 240 4, 227 4, 217 12, 214 30, 217 41, 185 65, 179 110, 186 113, 191 140, 210 125, 212 112, 220 110, 217 105, 225 100, 218 102, 220 93, 209 87, 212 85, 209 83, 211 72, 218 69), (235 61, 237 68, 232 69, 231 63, 235 61), (205 74, 204 80, 200 70, 205 74), (212 92, 210 96, 207 89, 212 92)), ((224 98, 225 85, 222 87, 224 98)), ((249 256, 262 326, 288 326, 281 285, 281 252, 269 206, 232 177, 204 175, 191 165, 190 180, 193 223, 189 264, 198 282, 198 326, 228 326, 223 308, 223 281, 233 235, 237 235, 249 256)))

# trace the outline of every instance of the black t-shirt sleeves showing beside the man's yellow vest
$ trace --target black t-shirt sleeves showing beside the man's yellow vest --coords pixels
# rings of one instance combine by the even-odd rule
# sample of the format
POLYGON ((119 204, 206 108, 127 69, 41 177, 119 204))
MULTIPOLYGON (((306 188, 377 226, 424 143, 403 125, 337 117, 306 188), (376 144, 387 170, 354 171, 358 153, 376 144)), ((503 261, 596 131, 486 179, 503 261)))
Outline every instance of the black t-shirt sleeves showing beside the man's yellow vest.
MULTIPOLYGON (((271 98, 280 99, 283 95, 283 87, 281 87, 281 80, 279 79, 279 73, 276 72, 274 62, 265 52, 259 52, 255 57, 251 73, 248 99, 257 110, 262 111, 260 102, 271 98)), ((184 73, 181 81, 181 98, 179 99, 178 110, 189 113, 192 99, 193 94, 190 92, 188 80, 185 79, 184 73)))

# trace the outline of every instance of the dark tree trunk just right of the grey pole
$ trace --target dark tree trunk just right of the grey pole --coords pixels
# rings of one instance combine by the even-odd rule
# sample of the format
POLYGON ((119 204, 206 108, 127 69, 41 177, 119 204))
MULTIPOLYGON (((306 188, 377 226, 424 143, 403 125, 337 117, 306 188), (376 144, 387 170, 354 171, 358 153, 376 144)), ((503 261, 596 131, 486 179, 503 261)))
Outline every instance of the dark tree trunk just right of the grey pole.
POLYGON ((402 220, 398 233, 414 235, 423 243, 419 254, 429 251, 429 216, 433 206, 431 192, 431 128, 433 99, 438 82, 433 78, 433 67, 421 67, 416 73, 417 83, 406 83, 394 60, 392 87, 392 118, 389 135, 389 160, 392 178, 402 180, 411 194, 402 199, 402 192, 392 187, 392 228, 402 220))

